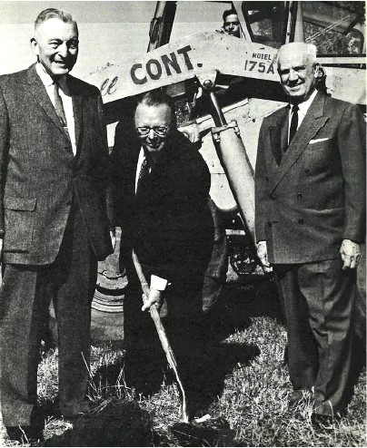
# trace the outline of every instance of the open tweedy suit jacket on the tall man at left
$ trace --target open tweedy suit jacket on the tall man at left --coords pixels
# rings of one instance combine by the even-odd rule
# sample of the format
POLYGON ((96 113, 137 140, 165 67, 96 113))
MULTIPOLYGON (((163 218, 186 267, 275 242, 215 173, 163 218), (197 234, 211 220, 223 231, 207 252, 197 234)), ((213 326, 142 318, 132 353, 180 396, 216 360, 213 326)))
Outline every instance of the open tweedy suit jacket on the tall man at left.
POLYGON ((0 228, 4 261, 52 263, 74 203, 98 259, 112 252, 106 215, 108 149, 98 89, 71 75, 77 153, 35 71, 0 77, 0 228))

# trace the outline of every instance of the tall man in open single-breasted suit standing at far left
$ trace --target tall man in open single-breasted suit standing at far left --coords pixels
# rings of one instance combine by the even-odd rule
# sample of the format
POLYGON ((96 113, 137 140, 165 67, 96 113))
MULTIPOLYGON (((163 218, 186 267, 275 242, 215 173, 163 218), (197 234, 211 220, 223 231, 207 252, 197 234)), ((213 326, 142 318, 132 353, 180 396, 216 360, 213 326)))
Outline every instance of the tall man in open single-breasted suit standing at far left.
POLYGON ((59 407, 84 401, 97 260, 113 249, 101 95, 69 72, 74 19, 47 9, 31 40, 37 63, 0 77, 1 411, 10 438, 39 438, 37 361, 50 297, 59 347, 59 407))

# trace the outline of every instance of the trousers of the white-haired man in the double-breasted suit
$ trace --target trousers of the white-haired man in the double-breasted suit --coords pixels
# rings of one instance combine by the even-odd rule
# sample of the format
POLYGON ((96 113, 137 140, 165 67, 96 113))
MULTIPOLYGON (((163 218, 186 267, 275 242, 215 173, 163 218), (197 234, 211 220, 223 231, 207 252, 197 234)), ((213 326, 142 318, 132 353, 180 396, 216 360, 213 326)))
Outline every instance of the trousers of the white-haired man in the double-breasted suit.
POLYGON ((342 260, 277 265, 294 389, 314 386, 318 414, 343 414, 351 397, 355 270, 342 260))

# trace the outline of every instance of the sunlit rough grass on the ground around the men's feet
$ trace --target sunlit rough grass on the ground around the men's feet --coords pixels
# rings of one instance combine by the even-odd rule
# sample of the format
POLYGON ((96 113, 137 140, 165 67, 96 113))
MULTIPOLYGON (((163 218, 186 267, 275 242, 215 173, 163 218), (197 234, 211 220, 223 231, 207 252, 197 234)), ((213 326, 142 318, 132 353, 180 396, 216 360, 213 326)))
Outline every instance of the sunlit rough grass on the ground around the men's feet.
MULTIPOLYGON (((89 395, 94 410, 68 422, 55 406, 55 349, 39 366, 44 445, 365 446, 365 370, 347 416, 315 431, 309 396, 292 410, 288 408, 292 385, 283 365, 286 336, 272 286, 229 284, 224 296, 204 341, 203 356, 211 363, 203 374, 205 412, 210 420, 197 427, 177 424, 180 400, 170 372, 162 371, 159 363, 129 372, 129 355, 122 348, 101 345, 94 346, 92 354, 89 395), (145 383, 141 381, 144 376, 145 383)), ((3 440, 4 446, 15 444, 3 440)))

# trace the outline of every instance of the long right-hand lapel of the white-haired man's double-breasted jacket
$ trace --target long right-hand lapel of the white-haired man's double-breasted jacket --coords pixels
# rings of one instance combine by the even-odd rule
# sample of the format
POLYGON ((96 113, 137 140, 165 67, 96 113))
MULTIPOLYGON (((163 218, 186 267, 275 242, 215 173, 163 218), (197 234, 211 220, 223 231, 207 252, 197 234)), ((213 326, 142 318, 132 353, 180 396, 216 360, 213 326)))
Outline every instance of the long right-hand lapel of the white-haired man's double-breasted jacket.
POLYGON ((293 141, 289 145, 288 150, 283 154, 280 170, 273 177, 270 189, 273 191, 284 175, 292 168, 293 164, 298 160, 300 155, 306 149, 309 141, 317 131, 329 120, 327 115, 323 115, 323 106, 325 98, 321 93, 317 93, 310 109, 293 137, 293 141))

